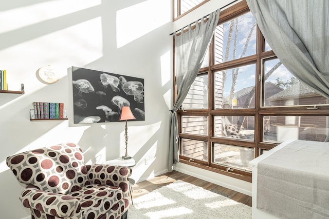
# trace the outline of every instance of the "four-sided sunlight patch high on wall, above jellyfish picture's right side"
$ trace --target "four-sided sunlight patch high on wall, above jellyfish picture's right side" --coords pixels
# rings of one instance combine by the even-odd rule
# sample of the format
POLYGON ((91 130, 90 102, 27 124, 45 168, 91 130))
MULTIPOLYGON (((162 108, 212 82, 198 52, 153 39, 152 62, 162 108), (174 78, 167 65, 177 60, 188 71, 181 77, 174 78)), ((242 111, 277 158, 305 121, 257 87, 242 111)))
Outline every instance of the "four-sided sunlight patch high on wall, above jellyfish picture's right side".
POLYGON ((117 11, 117 48, 171 21, 170 1, 148 0, 117 11))

